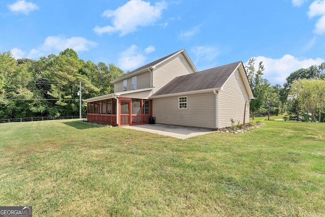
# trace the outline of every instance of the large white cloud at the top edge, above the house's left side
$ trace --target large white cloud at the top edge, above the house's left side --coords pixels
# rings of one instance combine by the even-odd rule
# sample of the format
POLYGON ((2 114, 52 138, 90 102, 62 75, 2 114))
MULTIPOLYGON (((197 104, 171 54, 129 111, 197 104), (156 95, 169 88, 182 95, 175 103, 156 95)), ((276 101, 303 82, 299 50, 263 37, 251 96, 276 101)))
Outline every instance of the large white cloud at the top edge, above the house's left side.
POLYGON ((140 26, 153 25, 161 18, 164 9, 167 9, 166 2, 157 2, 150 5, 150 2, 142 0, 131 0, 116 10, 106 10, 103 17, 111 18, 112 25, 104 27, 95 26, 95 33, 118 33, 120 36, 133 33, 140 26))

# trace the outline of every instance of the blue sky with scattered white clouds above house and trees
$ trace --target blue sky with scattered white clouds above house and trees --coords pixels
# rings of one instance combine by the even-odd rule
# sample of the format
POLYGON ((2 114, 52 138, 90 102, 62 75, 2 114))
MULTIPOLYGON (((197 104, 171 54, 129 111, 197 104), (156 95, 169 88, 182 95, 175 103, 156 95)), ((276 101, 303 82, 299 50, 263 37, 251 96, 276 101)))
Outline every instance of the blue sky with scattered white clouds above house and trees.
POLYGON ((2 0, 0 52, 66 48, 132 71, 185 49, 199 71, 254 57, 272 85, 325 61, 325 0, 2 0))

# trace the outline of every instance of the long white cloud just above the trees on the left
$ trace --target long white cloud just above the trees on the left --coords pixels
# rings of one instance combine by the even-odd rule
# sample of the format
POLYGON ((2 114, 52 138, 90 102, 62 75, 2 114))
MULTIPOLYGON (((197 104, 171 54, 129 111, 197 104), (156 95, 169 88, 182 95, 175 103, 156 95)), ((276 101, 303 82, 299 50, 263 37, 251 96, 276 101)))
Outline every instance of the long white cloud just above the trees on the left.
POLYGON ((88 41, 82 37, 66 38, 63 36, 49 36, 44 43, 37 49, 32 49, 27 58, 38 58, 50 53, 60 52, 67 48, 71 48, 76 52, 86 51, 90 47, 95 47, 96 43, 88 41))

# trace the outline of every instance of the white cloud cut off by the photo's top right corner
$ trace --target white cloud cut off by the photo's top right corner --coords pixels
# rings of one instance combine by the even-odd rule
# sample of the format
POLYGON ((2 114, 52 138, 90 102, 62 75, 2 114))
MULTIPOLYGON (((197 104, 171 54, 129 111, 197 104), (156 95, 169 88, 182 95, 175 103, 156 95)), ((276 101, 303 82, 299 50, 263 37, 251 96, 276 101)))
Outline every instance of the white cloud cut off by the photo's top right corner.
POLYGON ((317 35, 324 35, 325 34, 325 0, 314 1, 309 6, 308 16, 310 18, 314 16, 321 16, 315 24, 314 33, 317 35))

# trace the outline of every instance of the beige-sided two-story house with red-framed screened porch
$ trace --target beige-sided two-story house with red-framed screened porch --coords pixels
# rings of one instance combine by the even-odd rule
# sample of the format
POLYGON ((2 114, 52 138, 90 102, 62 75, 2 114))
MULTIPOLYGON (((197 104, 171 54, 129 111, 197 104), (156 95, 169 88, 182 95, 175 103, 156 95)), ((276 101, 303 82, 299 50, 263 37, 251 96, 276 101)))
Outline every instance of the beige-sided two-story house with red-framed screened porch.
POLYGON ((115 126, 156 123, 218 129, 249 122, 253 99, 242 61, 198 72, 185 50, 112 81, 114 93, 84 100, 87 119, 115 126))

